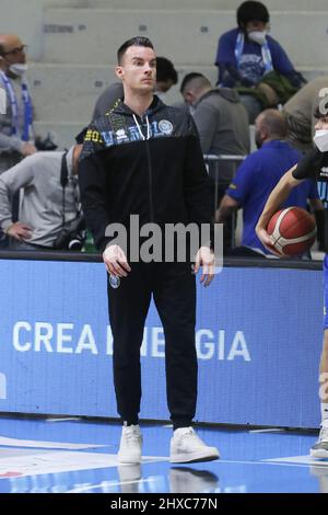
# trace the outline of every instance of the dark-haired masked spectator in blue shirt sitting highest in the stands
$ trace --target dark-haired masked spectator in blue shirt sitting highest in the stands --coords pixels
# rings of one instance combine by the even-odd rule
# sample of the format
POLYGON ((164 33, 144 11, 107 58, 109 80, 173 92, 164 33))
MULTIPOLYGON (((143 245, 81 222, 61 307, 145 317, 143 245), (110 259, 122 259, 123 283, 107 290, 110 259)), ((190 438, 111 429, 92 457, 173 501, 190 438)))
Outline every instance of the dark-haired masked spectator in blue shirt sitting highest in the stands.
POLYGON ((224 33, 218 45, 218 83, 238 88, 251 124, 262 108, 285 103, 305 82, 284 49, 268 35, 269 20, 261 2, 243 2, 237 9, 238 27, 224 33))

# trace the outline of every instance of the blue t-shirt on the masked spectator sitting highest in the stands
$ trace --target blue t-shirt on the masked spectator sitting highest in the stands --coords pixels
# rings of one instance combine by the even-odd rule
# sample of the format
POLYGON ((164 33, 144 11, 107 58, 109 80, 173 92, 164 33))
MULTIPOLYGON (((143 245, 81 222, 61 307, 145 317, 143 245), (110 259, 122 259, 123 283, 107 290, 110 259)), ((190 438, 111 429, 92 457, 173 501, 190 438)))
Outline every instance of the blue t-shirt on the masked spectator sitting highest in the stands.
MULTIPOLYGON (((249 79, 253 83, 258 83, 266 71, 261 46, 245 37, 243 54, 238 64, 235 56, 238 33, 239 28, 233 28, 222 34, 219 39, 215 65, 231 65, 239 71, 243 78, 249 79)), ((271 53, 273 69, 284 76, 293 73, 294 67, 284 49, 271 36, 267 36, 267 42, 271 53)), ((219 83, 223 87, 232 88, 234 85, 232 81, 231 76, 219 77, 219 83)))

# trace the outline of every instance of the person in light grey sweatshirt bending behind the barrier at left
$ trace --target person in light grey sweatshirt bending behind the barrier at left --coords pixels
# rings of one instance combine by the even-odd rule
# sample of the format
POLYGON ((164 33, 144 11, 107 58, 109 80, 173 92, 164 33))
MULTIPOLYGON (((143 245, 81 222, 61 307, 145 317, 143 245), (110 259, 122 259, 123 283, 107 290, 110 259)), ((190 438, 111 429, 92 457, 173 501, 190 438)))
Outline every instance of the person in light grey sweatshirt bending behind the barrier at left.
POLYGON ((44 151, 28 156, 0 175, 0 226, 9 238, 8 250, 70 250, 80 243, 78 163, 82 145, 68 152, 44 151), (11 198, 22 188, 17 221, 11 198))

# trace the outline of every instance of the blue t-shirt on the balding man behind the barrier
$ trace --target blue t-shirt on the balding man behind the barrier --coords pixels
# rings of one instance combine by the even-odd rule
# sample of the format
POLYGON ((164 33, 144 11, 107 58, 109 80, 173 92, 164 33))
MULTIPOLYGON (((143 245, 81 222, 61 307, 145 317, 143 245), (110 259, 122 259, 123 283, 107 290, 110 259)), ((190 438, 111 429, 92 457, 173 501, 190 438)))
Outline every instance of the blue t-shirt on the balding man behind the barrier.
MULTIPOLYGON (((257 238, 255 228, 273 187, 301 157, 286 141, 272 140, 243 161, 226 191, 243 208, 242 245, 270 254, 257 238)), ((311 179, 293 188, 282 207, 306 208, 307 198, 318 198, 317 184, 311 179)))

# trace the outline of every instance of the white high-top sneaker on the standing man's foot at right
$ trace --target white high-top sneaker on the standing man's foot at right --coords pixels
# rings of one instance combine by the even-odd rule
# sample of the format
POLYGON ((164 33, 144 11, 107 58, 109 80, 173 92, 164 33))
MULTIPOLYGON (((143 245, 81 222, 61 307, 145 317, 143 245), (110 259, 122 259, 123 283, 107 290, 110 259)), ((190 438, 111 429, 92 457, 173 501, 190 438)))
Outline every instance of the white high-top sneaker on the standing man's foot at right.
POLYGON ((192 427, 179 427, 173 433, 169 456, 172 464, 211 461, 219 457, 216 447, 209 447, 197 436, 192 427))

